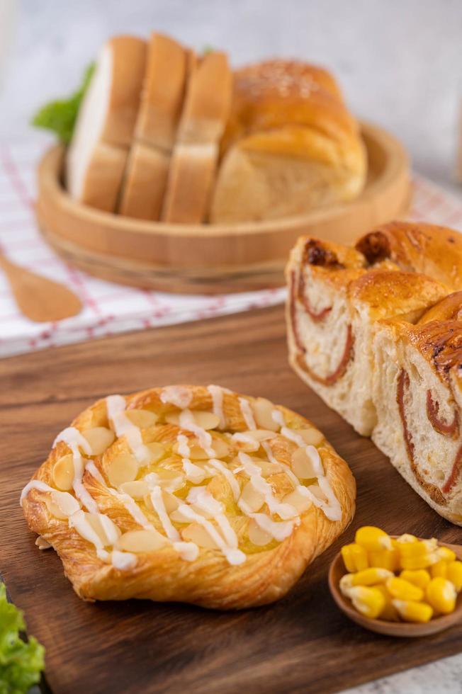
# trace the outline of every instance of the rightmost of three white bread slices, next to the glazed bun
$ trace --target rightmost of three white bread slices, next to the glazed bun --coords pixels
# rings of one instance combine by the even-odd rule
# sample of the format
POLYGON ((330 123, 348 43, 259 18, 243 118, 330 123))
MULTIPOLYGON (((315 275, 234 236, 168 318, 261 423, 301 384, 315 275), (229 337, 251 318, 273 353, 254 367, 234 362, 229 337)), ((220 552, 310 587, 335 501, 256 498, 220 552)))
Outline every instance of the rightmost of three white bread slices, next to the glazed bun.
POLYGON ((225 53, 209 53, 193 65, 170 164, 162 221, 197 224, 207 219, 231 95, 232 74, 225 53))

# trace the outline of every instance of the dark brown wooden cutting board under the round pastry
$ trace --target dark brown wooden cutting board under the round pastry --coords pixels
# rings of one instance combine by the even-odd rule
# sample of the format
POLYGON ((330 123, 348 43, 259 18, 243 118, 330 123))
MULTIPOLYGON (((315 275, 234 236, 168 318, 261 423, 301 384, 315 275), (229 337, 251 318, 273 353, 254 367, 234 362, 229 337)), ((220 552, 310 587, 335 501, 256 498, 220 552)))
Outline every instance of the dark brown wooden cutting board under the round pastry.
POLYGON ((0 362, 0 571, 46 648, 56 694, 332 692, 462 649, 462 624, 424 639, 374 635, 339 612, 327 567, 359 525, 461 542, 367 439, 291 372, 283 309, 128 334, 0 362), (342 540, 286 598, 216 613, 148 601, 84 603, 52 551, 34 545, 19 494, 55 435, 94 399, 169 383, 218 383, 312 419, 351 465, 358 508, 342 540))

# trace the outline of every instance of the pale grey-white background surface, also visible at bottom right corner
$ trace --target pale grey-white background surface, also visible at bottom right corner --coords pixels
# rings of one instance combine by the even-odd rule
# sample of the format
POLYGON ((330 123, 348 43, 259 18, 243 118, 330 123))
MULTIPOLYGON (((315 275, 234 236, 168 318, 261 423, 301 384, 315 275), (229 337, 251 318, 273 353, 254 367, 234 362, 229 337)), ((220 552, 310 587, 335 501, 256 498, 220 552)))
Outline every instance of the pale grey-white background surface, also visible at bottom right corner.
MULTIPOLYGON (((0 28, 12 2, 0 0, 0 28)), ((462 0, 23 0, 9 30, 0 143, 28 137, 35 108, 73 91, 108 35, 154 28, 222 47, 235 65, 280 55, 331 68, 355 113, 398 135, 417 171, 462 194, 462 0)), ((461 680, 462 655, 355 691, 456 694, 461 680)))

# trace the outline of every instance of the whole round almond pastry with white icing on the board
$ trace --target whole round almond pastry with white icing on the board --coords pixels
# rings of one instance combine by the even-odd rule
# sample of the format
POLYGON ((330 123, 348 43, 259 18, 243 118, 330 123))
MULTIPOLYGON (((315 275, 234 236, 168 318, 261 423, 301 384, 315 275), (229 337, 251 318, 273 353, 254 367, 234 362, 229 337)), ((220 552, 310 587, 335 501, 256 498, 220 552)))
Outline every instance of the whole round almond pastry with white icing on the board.
POLYGON ((112 395, 21 494, 86 600, 247 608, 281 598, 347 527, 347 463, 303 416, 218 386, 112 395))

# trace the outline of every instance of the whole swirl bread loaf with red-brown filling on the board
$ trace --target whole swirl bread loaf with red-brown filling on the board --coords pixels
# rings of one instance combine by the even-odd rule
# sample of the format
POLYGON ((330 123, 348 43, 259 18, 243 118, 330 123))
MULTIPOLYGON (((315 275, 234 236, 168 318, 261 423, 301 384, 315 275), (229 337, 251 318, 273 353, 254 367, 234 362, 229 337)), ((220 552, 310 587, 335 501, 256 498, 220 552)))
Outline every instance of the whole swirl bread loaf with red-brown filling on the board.
POLYGON ((349 249, 300 238, 287 266, 300 377, 462 525, 462 241, 393 222, 349 249))

